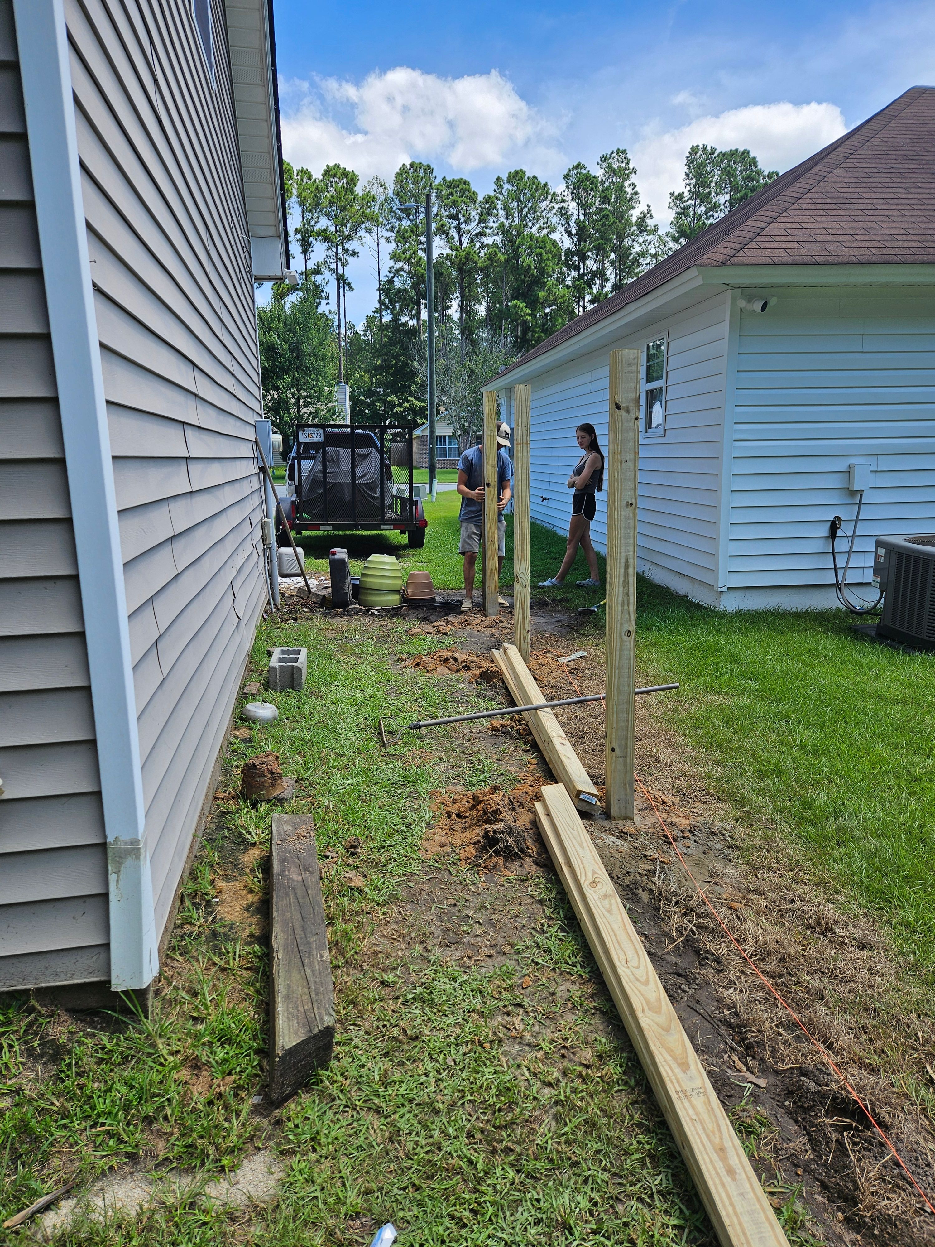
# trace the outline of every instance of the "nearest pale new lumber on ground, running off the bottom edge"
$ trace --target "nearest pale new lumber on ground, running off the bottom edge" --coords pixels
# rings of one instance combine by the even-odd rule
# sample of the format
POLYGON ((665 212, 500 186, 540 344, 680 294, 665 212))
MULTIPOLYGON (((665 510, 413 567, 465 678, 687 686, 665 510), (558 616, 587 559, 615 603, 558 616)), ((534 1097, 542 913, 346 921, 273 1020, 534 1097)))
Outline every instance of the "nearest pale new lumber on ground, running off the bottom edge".
POLYGON ((775 1213, 562 784, 536 818, 723 1247, 788 1247, 775 1213))

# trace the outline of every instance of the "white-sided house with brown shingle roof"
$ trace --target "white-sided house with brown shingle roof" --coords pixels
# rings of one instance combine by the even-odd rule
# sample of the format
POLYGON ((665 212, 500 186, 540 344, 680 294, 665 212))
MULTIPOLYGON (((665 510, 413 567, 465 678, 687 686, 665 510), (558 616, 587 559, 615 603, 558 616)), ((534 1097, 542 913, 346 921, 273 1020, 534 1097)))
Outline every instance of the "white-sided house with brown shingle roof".
MULTIPOLYGON (((640 569, 727 609, 833 606, 829 522, 935 526, 935 89, 711 226, 486 388, 532 392, 532 518, 565 529, 575 426, 607 430, 608 353, 641 359, 640 569), (760 308, 763 311, 760 311, 760 308)), ((595 542, 606 542, 598 494, 595 542)), ((868 591, 870 586, 868 585, 868 591)))

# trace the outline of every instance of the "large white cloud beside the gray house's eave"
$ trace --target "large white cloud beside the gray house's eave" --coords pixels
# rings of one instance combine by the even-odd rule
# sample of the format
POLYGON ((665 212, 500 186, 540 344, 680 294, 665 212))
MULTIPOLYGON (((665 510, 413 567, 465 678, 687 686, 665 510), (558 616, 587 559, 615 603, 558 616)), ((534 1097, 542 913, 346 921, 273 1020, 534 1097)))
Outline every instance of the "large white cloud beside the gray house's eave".
POLYGON ((285 157, 313 172, 330 161, 363 177, 391 177, 409 160, 465 173, 519 158, 561 163, 550 146, 552 127, 496 70, 444 79, 398 66, 360 84, 319 80, 314 92, 285 84, 284 95, 299 96, 283 116, 285 157))

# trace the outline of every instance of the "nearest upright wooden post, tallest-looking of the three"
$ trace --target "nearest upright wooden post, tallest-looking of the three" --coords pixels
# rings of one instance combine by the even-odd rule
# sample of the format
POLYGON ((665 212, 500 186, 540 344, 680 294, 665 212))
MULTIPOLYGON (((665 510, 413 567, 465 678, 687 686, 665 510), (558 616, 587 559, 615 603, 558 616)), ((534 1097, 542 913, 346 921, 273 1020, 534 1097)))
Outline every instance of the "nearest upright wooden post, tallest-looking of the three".
POLYGON ((640 352, 612 350, 607 439, 607 813, 633 817, 640 352))

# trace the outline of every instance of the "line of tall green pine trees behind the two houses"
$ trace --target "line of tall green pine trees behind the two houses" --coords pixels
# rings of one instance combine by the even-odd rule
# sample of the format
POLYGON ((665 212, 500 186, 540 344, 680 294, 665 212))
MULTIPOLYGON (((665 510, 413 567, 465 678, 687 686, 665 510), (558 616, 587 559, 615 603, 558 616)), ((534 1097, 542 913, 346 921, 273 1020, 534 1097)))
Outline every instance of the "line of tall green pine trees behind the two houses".
POLYGON ((608 298, 697 237, 778 175, 746 148, 693 146, 659 229, 641 205, 623 148, 559 186, 514 170, 480 195, 465 177, 411 161, 393 183, 328 165, 285 165, 292 262, 258 312, 267 413, 290 444, 297 423, 334 418, 334 384, 350 387, 360 421, 418 423, 426 394, 425 197, 435 259, 436 392, 464 446, 480 419, 480 385, 500 367, 608 298), (347 315, 350 261, 368 248, 376 306, 347 315))

